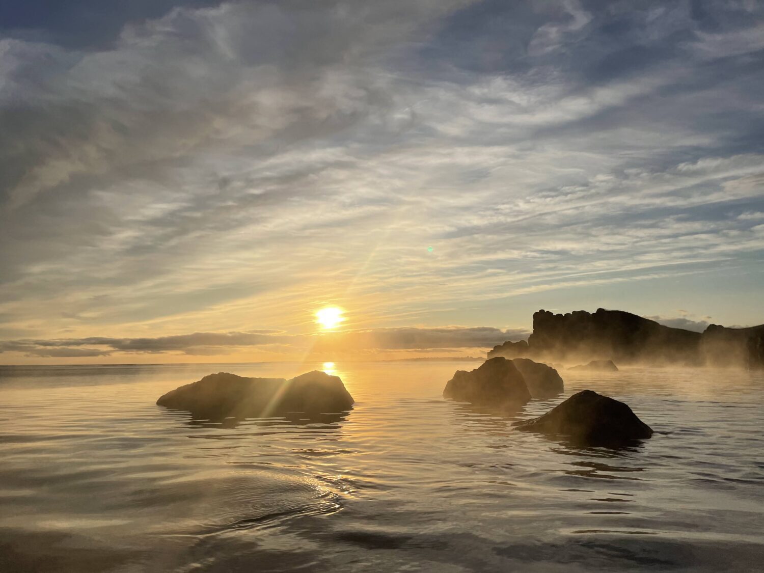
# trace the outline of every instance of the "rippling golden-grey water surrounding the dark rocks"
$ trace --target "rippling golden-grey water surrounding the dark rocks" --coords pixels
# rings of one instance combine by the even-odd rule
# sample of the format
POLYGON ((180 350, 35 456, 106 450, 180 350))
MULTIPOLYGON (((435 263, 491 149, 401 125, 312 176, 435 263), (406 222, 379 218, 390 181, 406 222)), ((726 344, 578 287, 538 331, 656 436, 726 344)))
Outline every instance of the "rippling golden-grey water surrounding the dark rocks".
POLYGON ((339 422, 154 405, 213 371, 321 366, 0 367, 0 571, 762 570, 762 374, 562 372, 564 395, 498 416, 441 397, 476 363, 355 363, 339 422), (656 435, 513 430, 584 388, 656 435))

